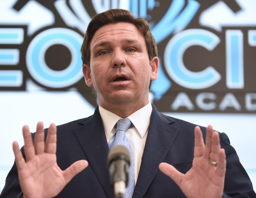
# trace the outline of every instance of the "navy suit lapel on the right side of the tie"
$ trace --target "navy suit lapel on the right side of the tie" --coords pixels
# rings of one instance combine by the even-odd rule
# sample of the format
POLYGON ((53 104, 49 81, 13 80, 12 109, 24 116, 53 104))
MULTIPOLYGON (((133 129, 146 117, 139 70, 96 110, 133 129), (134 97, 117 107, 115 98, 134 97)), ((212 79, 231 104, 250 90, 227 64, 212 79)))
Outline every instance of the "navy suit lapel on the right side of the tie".
POLYGON ((174 120, 159 113, 154 105, 152 107, 150 126, 133 197, 143 197, 178 133, 178 129, 170 125, 174 120))

